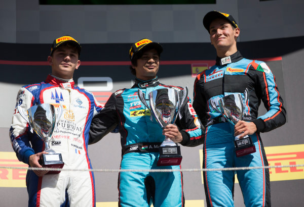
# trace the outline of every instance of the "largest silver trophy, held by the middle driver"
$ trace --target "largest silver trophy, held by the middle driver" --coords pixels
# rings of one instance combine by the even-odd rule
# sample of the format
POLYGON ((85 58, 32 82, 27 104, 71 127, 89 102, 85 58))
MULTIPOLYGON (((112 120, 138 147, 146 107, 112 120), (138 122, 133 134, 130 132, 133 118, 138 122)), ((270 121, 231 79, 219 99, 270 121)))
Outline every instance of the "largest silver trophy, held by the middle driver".
MULTIPOLYGON (((188 95, 188 88, 183 89, 182 100, 179 100, 177 90, 173 88, 162 88, 151 91, 148 94, 149 105, 144 98, 145 94, 138 89, 138 97, 144 106, 153 114, 160 127, 164 129, 169 124, 174 124, 177 116, 181 118, 180 107, 188 95)), ((153 121, 152 115, 150 120, 153 121)), ((165 140, 160 146, 160 156, 158 166, 179 165, 181 162, 180 147, 170 138, 165 140)))

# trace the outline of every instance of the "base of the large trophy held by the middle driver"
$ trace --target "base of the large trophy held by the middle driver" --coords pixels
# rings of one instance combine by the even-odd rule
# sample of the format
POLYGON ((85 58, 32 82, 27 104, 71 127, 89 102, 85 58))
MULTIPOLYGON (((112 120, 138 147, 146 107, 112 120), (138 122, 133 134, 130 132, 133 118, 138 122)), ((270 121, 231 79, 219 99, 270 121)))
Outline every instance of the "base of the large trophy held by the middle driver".
POLYGON ((181 155, 179 146, 161 146, 157 166, 180 165, 181 155))

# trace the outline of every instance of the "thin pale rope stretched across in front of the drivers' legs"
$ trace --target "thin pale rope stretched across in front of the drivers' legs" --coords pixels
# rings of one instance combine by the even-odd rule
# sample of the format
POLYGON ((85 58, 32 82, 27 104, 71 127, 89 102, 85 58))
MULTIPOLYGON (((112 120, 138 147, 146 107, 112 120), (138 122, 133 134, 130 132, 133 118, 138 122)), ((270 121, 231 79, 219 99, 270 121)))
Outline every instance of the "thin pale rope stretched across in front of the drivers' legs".
POLYGON ((0 169, 25 169, 25 170, 40 170, 40 171, 92 171, 101 173, 119 173, 119 172, 201 172, 201 171, 237 171, 237 170, 255 170, 269 168, 293 168, 304 167, 301 165, 280 165, 280 166, 256 166, 256 167, 234 167, 234 168, 201 168, 201 169, 69 169, 69 168, 33 168, 33 167, 10 167, 0 166, 0 169))

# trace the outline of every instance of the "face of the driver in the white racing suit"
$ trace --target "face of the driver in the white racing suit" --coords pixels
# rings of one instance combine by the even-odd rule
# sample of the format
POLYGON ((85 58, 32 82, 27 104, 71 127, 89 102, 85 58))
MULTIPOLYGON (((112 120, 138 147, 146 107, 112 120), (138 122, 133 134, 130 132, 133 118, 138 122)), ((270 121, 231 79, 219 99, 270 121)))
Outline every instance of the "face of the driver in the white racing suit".
POLYGON ((48 62, 52 66, 52 74, 59 78, 71 79, 75 69, 80 66, 78 50, 69 45, 62 45, 53 51, 53 55, 48 57, 48 62))

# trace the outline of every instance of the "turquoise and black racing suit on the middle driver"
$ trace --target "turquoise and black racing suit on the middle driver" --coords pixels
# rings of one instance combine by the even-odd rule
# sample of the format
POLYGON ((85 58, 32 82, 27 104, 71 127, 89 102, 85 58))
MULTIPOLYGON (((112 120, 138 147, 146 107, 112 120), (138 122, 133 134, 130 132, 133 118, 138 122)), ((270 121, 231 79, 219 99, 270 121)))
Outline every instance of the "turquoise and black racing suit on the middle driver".
MULTIPOLYGON (((135 79, 132 88, 112 93, 103 110, 92 120, 89 144, 99 141, 118 125, 123 151, 121 169, 180 169, 180 166, 157 166, 158 147, 165 136, 159 124, 150 121, 150 112, 137 95, 140 89, 148 99, 151 91, 161 88, 182 91, 180 87, 163 85, 155 78, 135 79)), ((189 99, 181 106, 181 115, 175 122, 183 137, 180 144, 202 144, 204 129, 189 99)), ((154 206, 183 206, 184 203, 181 172, 121 172, 118 189, 120 206, 147 206, 150 201, 154 206)))

